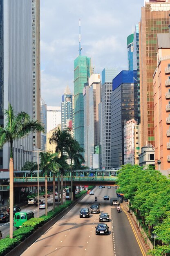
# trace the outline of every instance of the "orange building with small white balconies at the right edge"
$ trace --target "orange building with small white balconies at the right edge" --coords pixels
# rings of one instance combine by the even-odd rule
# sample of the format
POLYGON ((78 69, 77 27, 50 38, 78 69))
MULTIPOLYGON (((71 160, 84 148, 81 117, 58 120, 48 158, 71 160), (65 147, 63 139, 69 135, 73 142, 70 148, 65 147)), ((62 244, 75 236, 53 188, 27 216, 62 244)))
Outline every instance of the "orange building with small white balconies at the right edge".
POLYGON ((170 34, 157 34, 154 72, 155 168, 170 171, 170 34))

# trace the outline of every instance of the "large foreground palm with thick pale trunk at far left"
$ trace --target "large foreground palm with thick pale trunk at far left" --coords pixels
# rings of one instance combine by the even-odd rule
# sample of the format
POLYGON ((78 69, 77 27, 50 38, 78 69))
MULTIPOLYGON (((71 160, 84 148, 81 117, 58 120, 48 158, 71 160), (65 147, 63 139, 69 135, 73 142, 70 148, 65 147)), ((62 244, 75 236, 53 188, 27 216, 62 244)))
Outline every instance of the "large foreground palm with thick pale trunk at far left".
MULTIPOLYGON (((45 132, 44 126, 38 120, 31 120, 30 116, 24 112, 14 112, 11 104, 8 110, 4 110, 6 117, 5 127, 0 126, 0 148, 6 143, 10 144, 9 161, 9 207, 13 212, 13 141, 27 137, 31 132, 45 132)), ((13 214, 10 214, 9 237, 13 238, 13 214)))

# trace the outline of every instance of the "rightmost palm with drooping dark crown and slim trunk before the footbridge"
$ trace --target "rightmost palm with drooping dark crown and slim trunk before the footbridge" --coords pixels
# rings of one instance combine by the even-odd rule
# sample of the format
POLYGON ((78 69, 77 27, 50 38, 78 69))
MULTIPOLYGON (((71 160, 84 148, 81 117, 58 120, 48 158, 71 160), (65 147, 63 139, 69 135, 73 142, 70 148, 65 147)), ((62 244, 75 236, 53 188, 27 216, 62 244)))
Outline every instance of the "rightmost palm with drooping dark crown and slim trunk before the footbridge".
POLYGON ((69 146, 67 147, 67 153, 69 158, 71 159, 71 199, 73 200, 73 166, 72 160, 75 165, 80 166, 80 161, 85 162, 85 159, 81 153, 84 152, 84 149, 80 147, 80 144, 76 139, 72 138, 69 141, 69 146))

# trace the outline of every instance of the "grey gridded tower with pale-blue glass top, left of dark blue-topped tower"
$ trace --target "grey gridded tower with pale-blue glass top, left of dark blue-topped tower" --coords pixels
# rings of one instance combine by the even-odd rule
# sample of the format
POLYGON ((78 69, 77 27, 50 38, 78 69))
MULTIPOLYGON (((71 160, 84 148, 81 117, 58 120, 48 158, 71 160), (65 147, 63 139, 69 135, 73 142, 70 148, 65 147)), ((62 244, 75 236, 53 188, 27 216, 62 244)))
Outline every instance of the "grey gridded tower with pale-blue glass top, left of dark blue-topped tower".
POLYGON ((105 169, 111 169, 111 131, 110 131, 110 94, 112 80, 118 74, 116 68, 104 68, 102 71, 101 103, 100 108, 100 144, 101 163, 105 169))

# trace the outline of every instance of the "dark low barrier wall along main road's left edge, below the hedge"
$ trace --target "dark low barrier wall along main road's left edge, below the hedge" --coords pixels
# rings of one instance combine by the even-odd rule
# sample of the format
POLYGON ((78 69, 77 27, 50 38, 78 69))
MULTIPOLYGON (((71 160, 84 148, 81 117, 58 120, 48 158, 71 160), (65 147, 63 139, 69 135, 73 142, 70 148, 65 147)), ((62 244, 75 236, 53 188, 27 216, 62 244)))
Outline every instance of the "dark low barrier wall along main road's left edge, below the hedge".
POLYGON ((20 256, 25 250, 34 243, 42 234, 45 233, 51 226, 53 226, 60 218, 65 216, 79 201, 81 201, 87 193, 82 195, 80 198, 76 199, 69 207, 60 212, 57 216, 49 220, 45 225, 39 227, 33 234, 27 237, 24 241, 22 241, 19 245, 13 248, 9 253, 5 254, 5 256, 20 256))

